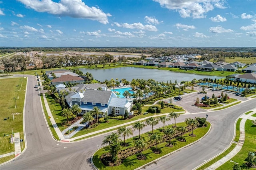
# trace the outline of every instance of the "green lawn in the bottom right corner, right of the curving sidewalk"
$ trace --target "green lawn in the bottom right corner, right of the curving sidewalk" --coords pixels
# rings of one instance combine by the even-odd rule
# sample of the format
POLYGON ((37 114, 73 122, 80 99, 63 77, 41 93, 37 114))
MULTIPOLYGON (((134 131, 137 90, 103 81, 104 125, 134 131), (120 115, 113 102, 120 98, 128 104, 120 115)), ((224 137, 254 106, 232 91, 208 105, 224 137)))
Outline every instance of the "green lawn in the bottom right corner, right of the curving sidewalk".
MULTIPOLYGON (((245 159, 248 156, 248 152, 252 151, 255 152, 255 146, 256 146, 256 126, 252 124, 251 120, 247 120, 245 123, 245 141, 244 141, 244 145, 242 147, 242 149, 240 150, 240 152, 238 152, 238 154, 236 154, 236 156, 234 156, 231 160, 234 162, 239 163, 240 166, 242 166, 242 168, 247 169, 245 166, 245 159)), ((223 164, 222 166, 220 166, 219 168, 217 168, 217 170, 231 170, 234 166, 233 162, 226 162, 225 164, 223 164)), ((250 170, 255 170, 256 168, 250 168, 250 170)))

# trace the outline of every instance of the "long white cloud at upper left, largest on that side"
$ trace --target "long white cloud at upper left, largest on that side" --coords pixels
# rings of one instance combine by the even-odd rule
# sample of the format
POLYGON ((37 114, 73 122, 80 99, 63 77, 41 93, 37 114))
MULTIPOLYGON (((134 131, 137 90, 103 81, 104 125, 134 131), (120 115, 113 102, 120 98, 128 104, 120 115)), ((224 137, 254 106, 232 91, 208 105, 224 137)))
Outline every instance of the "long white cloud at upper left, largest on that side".
POLYGON ((102 24, 108 24, 109 13, 104 13, 100 8, 87 6, 82 0, 18 0, 28 8, 37 12, 47 12, 58 16, 70 16, 72 18, 85 18, 96 20, 102 24))

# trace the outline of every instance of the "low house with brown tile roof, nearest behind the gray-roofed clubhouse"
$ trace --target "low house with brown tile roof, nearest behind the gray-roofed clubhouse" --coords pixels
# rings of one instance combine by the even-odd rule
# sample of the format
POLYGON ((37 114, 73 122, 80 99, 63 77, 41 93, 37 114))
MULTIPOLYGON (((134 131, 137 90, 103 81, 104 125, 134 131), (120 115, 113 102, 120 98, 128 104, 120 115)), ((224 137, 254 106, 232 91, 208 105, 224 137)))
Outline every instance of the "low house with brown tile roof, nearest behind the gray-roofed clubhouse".
POLYGON ((81 77, 70 75, 70 74, 61 75, 56 79, 52 79, 52 85, 58 85, 58 84, 64 84, 64 83, 65 84, 84 83, 84 79, 82 79, 81 77))

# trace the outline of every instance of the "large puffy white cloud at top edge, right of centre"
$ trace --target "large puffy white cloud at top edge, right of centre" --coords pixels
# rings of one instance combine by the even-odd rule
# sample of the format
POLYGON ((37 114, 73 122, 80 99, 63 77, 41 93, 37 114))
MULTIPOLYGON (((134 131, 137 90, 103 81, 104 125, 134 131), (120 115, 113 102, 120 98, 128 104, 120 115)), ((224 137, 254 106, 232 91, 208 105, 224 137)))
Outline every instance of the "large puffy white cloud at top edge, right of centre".
POLYGON ((224 9, 225 0, 154 0, 162 7, 177 10, 182 18, 205 18, 214 8, 224 9))

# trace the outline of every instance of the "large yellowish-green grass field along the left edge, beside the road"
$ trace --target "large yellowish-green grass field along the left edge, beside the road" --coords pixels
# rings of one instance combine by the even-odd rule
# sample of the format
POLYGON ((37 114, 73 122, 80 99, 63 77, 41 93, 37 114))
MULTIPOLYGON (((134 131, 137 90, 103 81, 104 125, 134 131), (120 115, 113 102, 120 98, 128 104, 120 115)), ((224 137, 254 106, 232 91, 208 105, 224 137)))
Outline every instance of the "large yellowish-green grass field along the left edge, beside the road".
MULTIPOLYGON (((24 139, 23 107, 27 79, 22 79, 22 77, 0 79, 0 155, 14 152, 14 144, 10 143, 12 131, 20 132, 20 138, 24 139), (7 120, 4 120, 5 118, 7 120)), ((24 143, 23 146, 25 147, 24 143)), ((0 158, 0 162, 2 159, 4 158, 0 158)))

